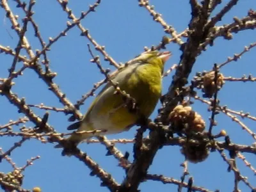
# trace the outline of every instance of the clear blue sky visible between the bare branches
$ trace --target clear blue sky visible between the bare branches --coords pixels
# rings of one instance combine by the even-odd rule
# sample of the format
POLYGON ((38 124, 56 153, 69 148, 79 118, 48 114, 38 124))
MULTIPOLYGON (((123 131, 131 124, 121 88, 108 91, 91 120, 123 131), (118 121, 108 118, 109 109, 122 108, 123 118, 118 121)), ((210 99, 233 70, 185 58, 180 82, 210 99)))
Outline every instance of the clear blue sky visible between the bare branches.
MULTIPOLYGON (((228 1, 223 1, 223 4, 228 1)), ((9 1, 13 12, 19 15, 19 20, 24 17, 24 13, 20 8, 16 8, 14 1, 9 1)), ((81 11, 88 10, 88 5, 94 1, 70 1, 68 7, 72 8, 76 17, 79 17, 81 11)), ((190 6, 188 1, 150 1, 155 5, 156 11, 163 15, 163 18, 171 24, 178 32, 183 31, 188 27, 188 22, 191 18, 190 6)), ((223 4, 218 6, 218 10, 223 7, 223 4)), ((219 22, 227 24, 232 22, 232 17, 239 18, 247 15, 248 10, 256 9, 254 0, 241 0, 237 6, 219 22)), ((60 4, 57 1, 38 0, 36 1, 35 15, 33 18, 38 23, 40 33, 44 40, 55 37, 66 28, 67 13, 62 11, 60 4)), ((214 13, 216 13, 214 12, 214 13)), ((2 8, 0 8, 0 44, 4 46, 16 47, 18 37, 12 29, 10 29, 10 21, 6 18, 2 8)), ((131 60, 134 56, 143 52, 143 47, 156 45, 161 41, 161 37, 165 35, 160 24, 154 22, 149 13, 138 6, 138 1, 102 1, 97 8, 96 13, 90 13, 82 22, 83 26, 89 29, 90 34, 100 45, 106 46, 106 51, 117 61, 125 62, 131 60)), ((84 36, 80 36, 81 31, 73 28, 67 33, 67 36, 61 38, 51 47, 48 52, 51 61, 50 67, 52 71, 57 72, 58 76, 54 79, 60 89, 67 94, 68 99, 73 103, 81 99, 81 95, 88 92, 93 83, 97 83, 104 78, 99 73, 99 69, 93 63, 90 63, 90 55, 88 53, 88 40, 84 36)), ((33 49, 40 49, 40 44, 35 38, 34 31, 29 25, 26 36, 33 49)), ((210 70, 214 63, 221 63, 227 60, 227 56, 232 56, 234 53, 241 52, 245 45, 255 42, 255 30, 242 31, 234 34, 234 40, 227 41, 223 38, 218 38, 215 41, 214 47, 208 47, 206 52, 203 52, 195 63, 195 68, 190 78, 195 75, 196 71, 210 70)), ((173 63, 179 63, 181 52, 179 46, 171 44, 167 46, 169 51, 173 52, 173 57, 166 63, 166 68, 169 68, 173 63)), ((93 50, 94 51, 94 50, 93 50)), ((99 52, 94 51, 95 54, 99 52)), ((22 54, 25 54, 22 51, 22 54)), ((255 74, 255 54, 256 49, 244 54, 241 60, 230 63, 223 67, 221 72, 225 76, 241 77, 243 74, 255 74)), ((101 56, 101 55, 100 55, 101 56)), ((0 54, 0 77, 8 77, 8 68, 12 63, 13 58, 0 54)), ((108 62, 102 60, 102 65, 105 68, 109 67, 108 62)), ((21 66, 19 63, 18 68, 21 66)), ((110 67, 113 69, 113 67, 110 67)), ((166 93, 168 86, 172 80, 172 74, 164 78, 163 93, 166 93)), ((63 108, 55 95, 47 90, 45 83, 38 79, 33 70, 26 70, 24 76, 14 79, 15 86, 13 92, 19 97, 26 97, 28 104, 44 103, 46 106, 55 106, 63 108)), ((221 90, 220 100, 222 105, 227 105, 229 108, 237 111, 250 112, 256 116, 255 106, 255 83, 230 83, 227 82, 221 90)), ((81 107, 81 112, 84 113, 93 98, 87 99, 81 107)), ((159 107, 159 106, 158 106, 159 107)), ((204 116, 209 127, 208 117, 211 115, 207 111, 207 106, 195 102, 193 108, 204 116)), ((35 109, 35 113, 39 116, 44 115, 43 110, 35 109)), ((0 124, 6 124, 8 120, 17 120, 22 117, 22 114, 17 113, 17 108, 11 105, 5 97, 0 97, 0 124)), ((156 111, 152 114, 152 118, 156 117, 156 111)), ((63 113, 55 113, 50 111, 49 124, 58 132, 67 132, 66 127, 68 116, 63 113)), ((250 145, 254 142, 252 136, 241 130, 239 125, 235 124, 225 115, 218 115, 218 126, 214 127, 213 132, 218 133, 221 129, 226 129, 232 141, 236 143, 250 145)), ((244 120, 244 124, 251 127, 255 132, 255 122, 244 120)), ((33 127, 34 125, 26 124, 33 127)), ((19 131, 19 127, 14 127, 19 131)), ((136 128, 129 132, 108 136, 108 138, 132 138, 136 133, 136 128)), ((20 138, 1 138, 0 147, 3 150, 8 150, 12 147, 15 141, 20 138)), ((53 148, 52 144, 42 144, 39 141, 26 141, 22 147, 12 153, 12 159, 17 166, 26 164, 26 160, 33 156, 41 156, 40 160, 35 161, 33 166, 29 167, 24 173, 24 188, 31 189, 35 186, 40 186, 43 191, 108 191, 107 188, 99 187, 100 180, 97 177, 90 177, 90 170, 83 163, 74 157, 62 157, 61 150, 53 148)), ((132 161, 132 145, 116 145, 122 152, 129 151, 132 161)), ((87 152, 104 170, 111 173, 117 182, 122 182, 124 179, 124 170, 118 167, 118 162, 112 156, 106 157, 106 149, 100 144, 81 144, 81 150, 87 152)), ((164 147, 154 159, 154 164, 150 167, 148 173, 163 174, 166 177, 174 177, 179 179, 182 175, 182 167, 180 163, 184 157, 180 155, 179 147, 164 147)), ((248 161, 255 164, 255 156, 247 155, 248 161)), ((244 166, 243 162, 238 160, 237 165, 241 168, 241 173, 248 176, 248 180, 252 184, 256 184, 255 176, 252 171, 244 166)), ((234 173, 227 172, 227 163, 223 162, 218 152, 212 152, 210 157, 203 163, 189 163, 189 173, 193 175, 196 186, 221 191, 232 191, 234 188, 234 173)), ((10 164, 3 161, 0 163, 1 172, 10 172, 12 170, 10 164)), ((187 182, 188 180, 186 180, 187 182)), ((250 191, 241 182, 239 188, 243 191, 250 191)), ((172 184, 161 184, 160 182, 148 181, 140 185, 141 191, 177 191, 177 186, 172 184)), ((186 191, 186 189, 184 189, 186 191)))

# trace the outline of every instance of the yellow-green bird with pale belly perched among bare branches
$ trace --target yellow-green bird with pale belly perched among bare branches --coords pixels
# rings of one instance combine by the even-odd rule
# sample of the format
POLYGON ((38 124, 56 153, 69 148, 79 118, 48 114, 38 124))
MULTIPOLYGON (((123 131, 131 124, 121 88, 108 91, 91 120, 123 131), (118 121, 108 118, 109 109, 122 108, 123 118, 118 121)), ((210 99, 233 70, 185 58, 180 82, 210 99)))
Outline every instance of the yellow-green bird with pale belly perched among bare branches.
MULTIPOLYGON (((68 126, 68 130, 76 129, 76 131, 65 139, 68 143, 66 145, 76 147, 95 134, 127 131, 140 118, 148 118, 161 97, 164 63, 170 56, 169 51, 143 52, 111 77, 113 83, 118 83, 121 91, 135 99, 139 113, 136 113, 136 110, 132 111, 125 102, 124 95, 117 94, 114 86, 108 82, 92 102, 83 119, 68 126), (86 132, 94 130, 102 132, 95 134, 86 132)), ((63 146, 59 144, 56 147, 63 146)))

